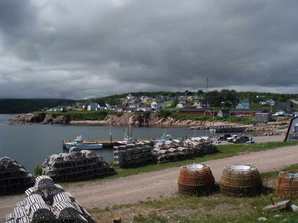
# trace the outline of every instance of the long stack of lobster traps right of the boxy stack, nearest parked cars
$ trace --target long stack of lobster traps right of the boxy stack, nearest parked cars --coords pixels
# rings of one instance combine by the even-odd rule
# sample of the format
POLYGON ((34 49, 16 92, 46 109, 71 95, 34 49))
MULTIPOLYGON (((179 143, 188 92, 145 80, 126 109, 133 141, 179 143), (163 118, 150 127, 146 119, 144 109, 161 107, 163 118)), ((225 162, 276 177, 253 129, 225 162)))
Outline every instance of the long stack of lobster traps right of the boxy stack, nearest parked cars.
POLYGON ((154 146, 153 161, 155 163, 165 163, 170 161, 183 160, 201 154, 215 152, 217 149, 210 137, 197 137, 196 141, 187 139, 180 141, 158 142, 154 146))

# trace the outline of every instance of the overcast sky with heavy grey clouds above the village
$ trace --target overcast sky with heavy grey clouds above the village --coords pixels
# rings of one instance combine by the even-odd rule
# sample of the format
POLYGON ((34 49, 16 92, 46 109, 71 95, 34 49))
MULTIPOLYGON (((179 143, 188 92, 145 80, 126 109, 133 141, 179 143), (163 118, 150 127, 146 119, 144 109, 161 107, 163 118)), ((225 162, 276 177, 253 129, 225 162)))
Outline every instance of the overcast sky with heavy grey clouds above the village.
POLYGON ((0 98, 298 89, 297 0, 0 0, 0 98))

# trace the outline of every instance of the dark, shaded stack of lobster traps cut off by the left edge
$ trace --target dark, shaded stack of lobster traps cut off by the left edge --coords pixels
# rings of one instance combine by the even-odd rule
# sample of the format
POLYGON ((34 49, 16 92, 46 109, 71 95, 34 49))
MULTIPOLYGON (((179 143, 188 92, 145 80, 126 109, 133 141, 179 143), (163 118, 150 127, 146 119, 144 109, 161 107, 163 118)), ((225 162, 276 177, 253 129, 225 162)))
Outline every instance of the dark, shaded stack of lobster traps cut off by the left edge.
POLYGON ((0 191, 12 191, 18 187, 30 187, 34 176, 16 160, 4 156, 0 159, 0 191))

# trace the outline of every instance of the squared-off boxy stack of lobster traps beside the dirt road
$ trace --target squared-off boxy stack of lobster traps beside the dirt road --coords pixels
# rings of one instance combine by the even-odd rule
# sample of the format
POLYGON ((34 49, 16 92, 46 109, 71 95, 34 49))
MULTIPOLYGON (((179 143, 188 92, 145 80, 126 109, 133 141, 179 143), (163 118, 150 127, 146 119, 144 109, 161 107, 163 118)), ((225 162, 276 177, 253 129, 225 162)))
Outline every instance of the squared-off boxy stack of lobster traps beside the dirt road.
POLYGON ((114 146, 114 164, 118 167, 133 167, 152 162, 151 143, 149 141, 135 144, 114 146))

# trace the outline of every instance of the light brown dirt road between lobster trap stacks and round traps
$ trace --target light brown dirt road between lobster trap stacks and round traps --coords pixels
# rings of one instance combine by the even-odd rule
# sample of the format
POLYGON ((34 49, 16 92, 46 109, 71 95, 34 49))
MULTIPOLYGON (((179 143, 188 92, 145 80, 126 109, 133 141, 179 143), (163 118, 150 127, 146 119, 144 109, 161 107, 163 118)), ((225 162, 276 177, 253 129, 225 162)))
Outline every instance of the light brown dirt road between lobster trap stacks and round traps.
MULTIPOLYGON (((285 136, 260 136, 254 141, 283 141, 285 136)), ((224 145, 223 145, 224 146, 224 145)), ((259 172, 279 170, 285 166, 298 163, 297 146, 282 147, 240 156, 205 162, 209 165, 215 180, 218 182, 224 166, 227 164, 250 163, 257 166, 259 172)), ((71 186, 67 189, 84 208, 105 208, 106 206, 133 203, 146 200, 148 197, 159 199, 170 197, 177 192, 177 179, 180 168, 170 168, 156 172, 107 180, 100 183, 86 182, 84 186, 71 186)), ((24 195, 4 197, 0 199, 1 222, 7 213, 13 211, 16 203, 24 199, 24 195)))

